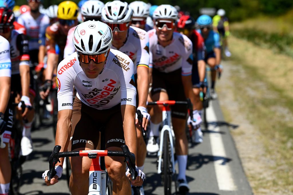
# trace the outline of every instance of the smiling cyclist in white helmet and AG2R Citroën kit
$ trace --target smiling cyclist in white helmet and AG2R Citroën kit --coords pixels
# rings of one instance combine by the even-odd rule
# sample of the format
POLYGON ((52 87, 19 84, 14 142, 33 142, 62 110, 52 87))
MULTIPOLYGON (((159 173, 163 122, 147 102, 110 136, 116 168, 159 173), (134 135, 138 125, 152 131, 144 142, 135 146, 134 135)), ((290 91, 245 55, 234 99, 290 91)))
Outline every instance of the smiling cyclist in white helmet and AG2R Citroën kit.
MULTIPOLYGON (((192 42, 184 34, 174 32, 178 20, 178 12, 171 5, 160 5, 153 14, 155 28, 148 31, 150 52, 150 73, 152 89, 148 101, 185 101, 189 98, 193 103, 193 119, 188 118, 196 129, 201 123, 200 115, 196 110, 195 96, 192 89, 192 42)), ((161 123, 161 109, 154 106, 150 109, 151 132, 147 149, 159 150, 156 139, 159 135, 161 123)), ((186 181, 186 165, 188 141, 185 134, 187 108, 172 106, 172 125, 176 138, 176 156, 178 160, 178 188, 181 194, 189 191, 186 181)))

